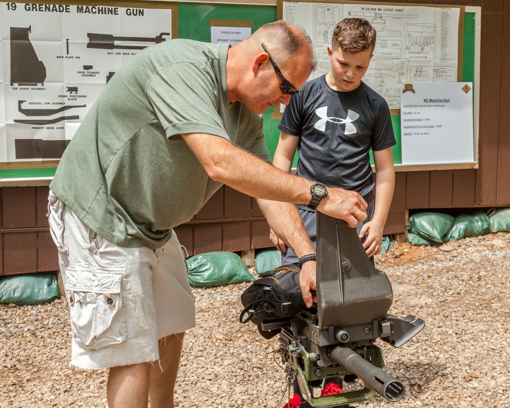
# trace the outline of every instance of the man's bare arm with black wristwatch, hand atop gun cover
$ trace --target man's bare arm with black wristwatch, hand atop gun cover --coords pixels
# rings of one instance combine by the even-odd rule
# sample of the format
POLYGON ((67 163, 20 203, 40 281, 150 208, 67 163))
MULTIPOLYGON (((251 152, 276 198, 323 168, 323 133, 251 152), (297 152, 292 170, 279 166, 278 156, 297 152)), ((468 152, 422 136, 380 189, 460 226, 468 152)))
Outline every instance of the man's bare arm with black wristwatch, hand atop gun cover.
MULTIPOLYGON (((211 179, 256 198, 308 204, 313 182, 271 166, 214 135, 183 134, 211 179)), ((352 191, 328 189, 317 210, 354 227, 367 218, 366 201, 352 191)))

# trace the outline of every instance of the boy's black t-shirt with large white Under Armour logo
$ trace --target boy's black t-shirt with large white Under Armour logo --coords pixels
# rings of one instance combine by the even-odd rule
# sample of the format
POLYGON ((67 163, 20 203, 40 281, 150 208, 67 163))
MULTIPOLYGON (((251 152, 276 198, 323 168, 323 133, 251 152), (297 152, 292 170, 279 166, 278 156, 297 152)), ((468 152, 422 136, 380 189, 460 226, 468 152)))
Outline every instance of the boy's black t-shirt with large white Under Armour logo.
POLYGON ((369 151, 396 144, 388 104, 368 85, 331 89, 325 75, 293 95, 278 129, 299 136, 297 175, 365 196, 374 188, 369 151))

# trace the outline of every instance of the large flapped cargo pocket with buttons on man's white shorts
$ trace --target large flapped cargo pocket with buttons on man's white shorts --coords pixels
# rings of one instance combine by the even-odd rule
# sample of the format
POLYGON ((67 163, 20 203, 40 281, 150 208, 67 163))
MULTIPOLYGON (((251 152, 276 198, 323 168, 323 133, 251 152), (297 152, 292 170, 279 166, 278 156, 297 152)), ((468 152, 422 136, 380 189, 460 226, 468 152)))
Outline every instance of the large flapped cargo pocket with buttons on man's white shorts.
POLYGON ((93 270, 70 265, 65 290, 74 340, 86 349, 103 348, 127 340, 122 308, 123 269, 93 270))

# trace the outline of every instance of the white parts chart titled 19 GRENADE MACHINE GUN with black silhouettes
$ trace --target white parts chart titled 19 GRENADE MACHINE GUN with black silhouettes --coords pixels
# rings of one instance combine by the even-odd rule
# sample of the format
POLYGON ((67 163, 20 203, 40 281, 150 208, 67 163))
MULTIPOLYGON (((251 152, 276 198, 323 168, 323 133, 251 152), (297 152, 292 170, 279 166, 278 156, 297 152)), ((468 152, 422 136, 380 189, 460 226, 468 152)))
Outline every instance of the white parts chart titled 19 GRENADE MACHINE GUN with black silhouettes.
POLYGON ((171 38, 170 9, 0 3, 0 163, 60 159, 115 71, 171 38))

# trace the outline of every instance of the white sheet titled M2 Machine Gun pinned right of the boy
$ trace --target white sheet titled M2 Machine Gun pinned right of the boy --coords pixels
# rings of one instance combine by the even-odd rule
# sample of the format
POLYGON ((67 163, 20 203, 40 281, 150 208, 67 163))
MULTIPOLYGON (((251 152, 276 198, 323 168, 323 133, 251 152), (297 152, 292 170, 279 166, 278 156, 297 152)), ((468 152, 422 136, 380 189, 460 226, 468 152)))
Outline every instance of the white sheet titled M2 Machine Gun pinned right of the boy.
POLYGON ((401 87, 402 164, 474 162, 473 84, 401 87))

